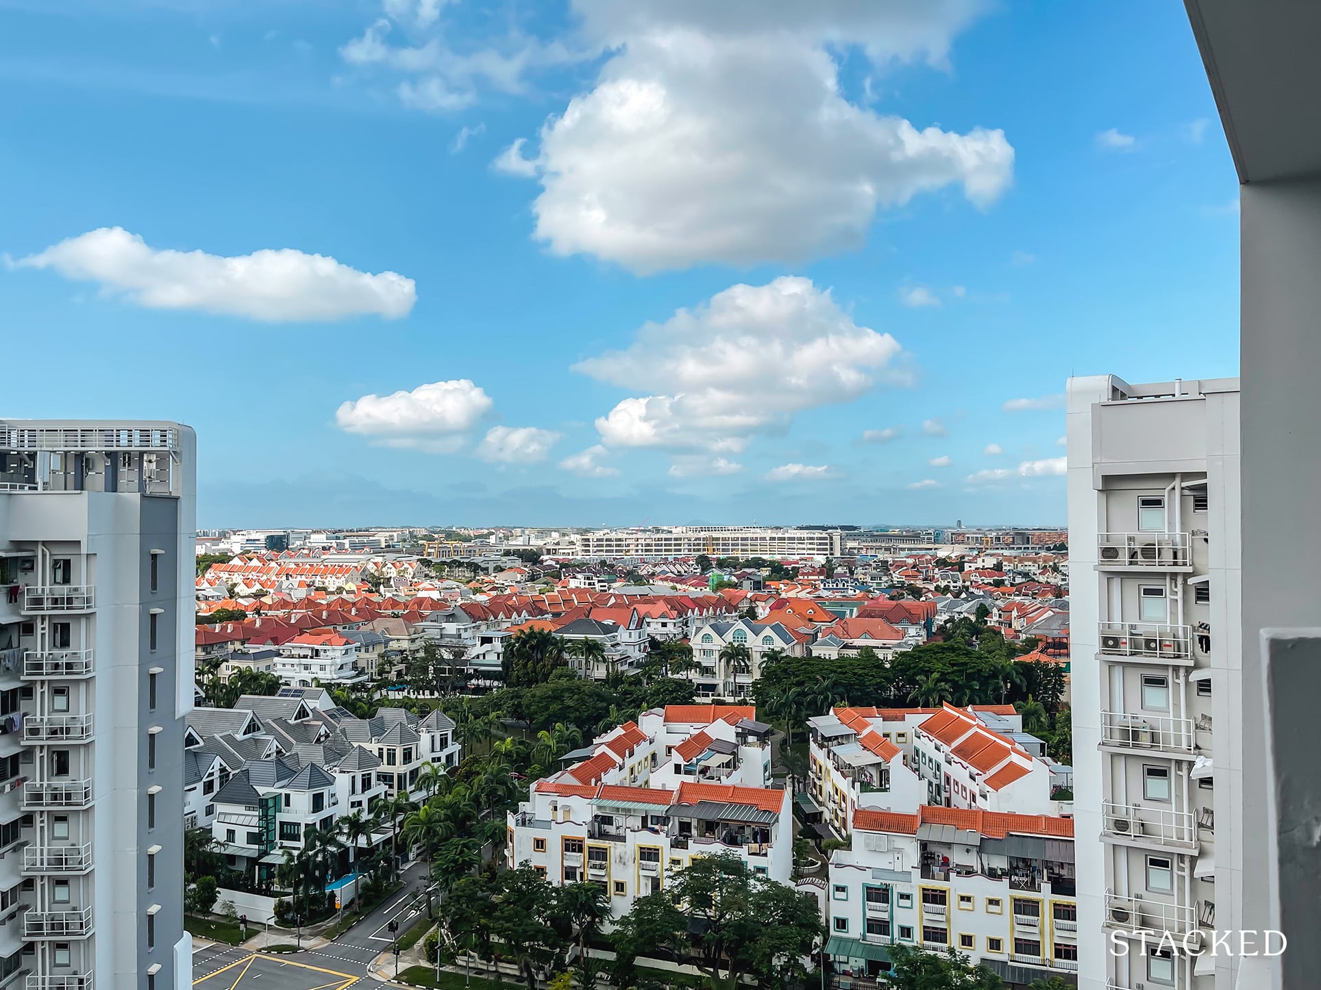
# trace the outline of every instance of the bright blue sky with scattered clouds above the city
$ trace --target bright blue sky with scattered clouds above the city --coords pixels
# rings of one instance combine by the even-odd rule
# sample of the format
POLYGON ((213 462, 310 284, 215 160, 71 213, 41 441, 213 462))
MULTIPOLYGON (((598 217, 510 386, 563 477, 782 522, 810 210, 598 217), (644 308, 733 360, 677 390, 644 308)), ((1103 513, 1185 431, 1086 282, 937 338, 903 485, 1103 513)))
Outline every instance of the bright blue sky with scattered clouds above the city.
POLYGON ((1238 371, 1172 0, 0 0, 0 414, 201 525, 1055 524, 1070 374, 1238 371))

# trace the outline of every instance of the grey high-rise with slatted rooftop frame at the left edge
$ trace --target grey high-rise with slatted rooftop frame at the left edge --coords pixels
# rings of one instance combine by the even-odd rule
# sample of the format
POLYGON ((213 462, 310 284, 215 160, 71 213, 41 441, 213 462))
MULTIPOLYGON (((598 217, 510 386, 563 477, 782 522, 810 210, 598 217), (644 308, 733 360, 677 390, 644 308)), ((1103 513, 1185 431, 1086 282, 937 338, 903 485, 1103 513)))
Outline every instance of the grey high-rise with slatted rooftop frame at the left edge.
POLYGON ((0 985, 192 983, 193 432, 0 421, 0 985))

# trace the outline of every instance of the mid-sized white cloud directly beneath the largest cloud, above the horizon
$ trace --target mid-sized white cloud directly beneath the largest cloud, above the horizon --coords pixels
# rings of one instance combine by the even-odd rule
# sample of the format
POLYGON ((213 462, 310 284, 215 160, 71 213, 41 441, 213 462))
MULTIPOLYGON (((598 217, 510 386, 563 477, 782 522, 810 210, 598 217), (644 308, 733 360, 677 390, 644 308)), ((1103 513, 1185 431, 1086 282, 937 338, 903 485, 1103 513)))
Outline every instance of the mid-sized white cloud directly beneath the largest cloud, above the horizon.
POLYGON ((808 279, 734 285, 664 323, 646 323, 622 351, 575 371, 630 389, 596 421, 608 447, 738 453, 753 436, 783 430, 793 414, 848 403, 892 368, 900 345, 857 326, 808 279))

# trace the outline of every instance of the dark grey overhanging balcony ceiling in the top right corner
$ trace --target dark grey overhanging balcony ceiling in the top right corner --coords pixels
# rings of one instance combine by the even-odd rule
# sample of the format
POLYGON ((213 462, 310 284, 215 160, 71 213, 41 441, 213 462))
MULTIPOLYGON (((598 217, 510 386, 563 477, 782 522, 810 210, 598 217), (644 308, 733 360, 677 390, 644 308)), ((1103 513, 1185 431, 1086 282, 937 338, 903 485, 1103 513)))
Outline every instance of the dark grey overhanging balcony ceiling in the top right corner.
POLYGON ((1240 182, 1321 173, 1321 3, 1185 0, 1240 182))

